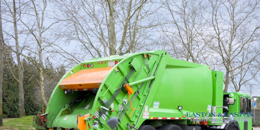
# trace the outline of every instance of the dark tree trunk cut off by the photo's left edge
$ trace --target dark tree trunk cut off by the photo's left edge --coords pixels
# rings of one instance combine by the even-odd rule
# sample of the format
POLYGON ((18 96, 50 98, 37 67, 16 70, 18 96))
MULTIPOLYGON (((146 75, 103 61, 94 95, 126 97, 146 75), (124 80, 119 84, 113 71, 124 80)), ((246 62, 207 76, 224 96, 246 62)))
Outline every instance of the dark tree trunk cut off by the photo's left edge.
POLYGON ((1 1, 0 1, 0 126, 3 125, 3 109, 2 109, 2 90, 3 90, 3 31, 2 31, 2 15, 1 15, 1 1))

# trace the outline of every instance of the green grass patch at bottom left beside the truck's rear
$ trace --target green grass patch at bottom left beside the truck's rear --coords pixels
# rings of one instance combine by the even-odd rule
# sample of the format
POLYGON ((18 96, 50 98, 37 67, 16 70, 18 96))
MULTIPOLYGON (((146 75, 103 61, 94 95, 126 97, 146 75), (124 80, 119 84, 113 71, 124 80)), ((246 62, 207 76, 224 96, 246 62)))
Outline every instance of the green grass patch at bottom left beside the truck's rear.
MULTIPOLYGON (((25 116, 17 119, 4 120, 0 130, 28 130, 33 127, 33 116, 25 116)), ((36 128, 34 128, 36 130, 36 128)))

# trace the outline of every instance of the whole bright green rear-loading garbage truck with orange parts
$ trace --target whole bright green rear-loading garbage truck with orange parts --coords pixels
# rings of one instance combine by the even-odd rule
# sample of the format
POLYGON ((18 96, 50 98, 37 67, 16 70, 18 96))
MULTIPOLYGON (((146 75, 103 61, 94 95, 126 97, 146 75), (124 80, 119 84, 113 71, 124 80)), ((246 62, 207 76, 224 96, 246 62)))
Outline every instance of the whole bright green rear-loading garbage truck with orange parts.
POLYGON ((33 125, 39 130, 251 130, 250 101, 248 94, 223 93, 222 72, 157 50, 73 67, 33 125))

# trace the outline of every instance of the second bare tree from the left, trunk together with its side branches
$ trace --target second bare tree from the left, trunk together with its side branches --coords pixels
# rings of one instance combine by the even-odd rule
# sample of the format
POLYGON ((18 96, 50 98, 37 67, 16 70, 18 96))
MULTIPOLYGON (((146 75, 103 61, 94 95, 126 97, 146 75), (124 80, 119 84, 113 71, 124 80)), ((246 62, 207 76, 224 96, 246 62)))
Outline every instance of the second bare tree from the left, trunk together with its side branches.
MULTIPOLYGON (((5 1, 5 0, 4 0, 5 1)), ((11 2, 10 2, 11 3, 11 2)), ((23 91, 23 68, 22 68, 22 62, 21 62, 21 55, 20 53, 22 50, 20 50, 19 47, 19 39, 18 39, 18 31, 17 31, 17 21, 18 19, 16 18, 16 2, 15 0, 12 1, 12 5, 10 6, 10 3, 5 1, 5 6, 7 6, 7 9, 5 9, 5 12, 8 12, 9 16, 12 16, 12 21, 9 20, 8 18, 4 18, 5 21, 12 23, 13 26, 13 31, 14 34, 10 34, 5 32, 7 35, 11 36, 15 40, 15 49, 12 49, 12 45, 7 45, 8 48, 16 54, 16 60, 17 60, 17 67, 18 67, 18 78, 14 75, 14 70, 12 70, 10 66, 9 61, 5 61, 5 63, 8 66, 8 69, 10 71, 11 76, 13 79, 18 83, 18 88, 19 88, 19 116, 23 117, 25 116, 25 108, 24 108, 24 91, 23 91)), ((8 57, 5 57, 6 60, 8 60, 8 57)))

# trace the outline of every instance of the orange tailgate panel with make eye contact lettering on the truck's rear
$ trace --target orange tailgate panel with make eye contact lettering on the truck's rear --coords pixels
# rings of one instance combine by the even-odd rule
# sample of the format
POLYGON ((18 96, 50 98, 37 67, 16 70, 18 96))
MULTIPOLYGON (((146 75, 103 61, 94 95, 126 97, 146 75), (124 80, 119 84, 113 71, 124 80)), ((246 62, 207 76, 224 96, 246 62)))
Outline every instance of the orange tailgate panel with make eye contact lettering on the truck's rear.
POLYGON ((63 79, 59 86, 62 89, 99 88, 98 83, 102 83, 112 68, 79 70, 75 74, 63 79))

